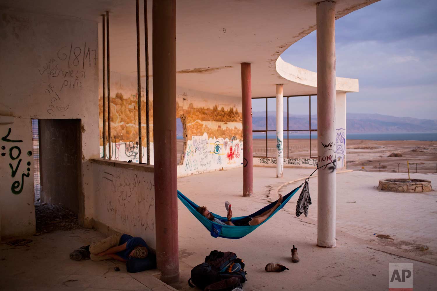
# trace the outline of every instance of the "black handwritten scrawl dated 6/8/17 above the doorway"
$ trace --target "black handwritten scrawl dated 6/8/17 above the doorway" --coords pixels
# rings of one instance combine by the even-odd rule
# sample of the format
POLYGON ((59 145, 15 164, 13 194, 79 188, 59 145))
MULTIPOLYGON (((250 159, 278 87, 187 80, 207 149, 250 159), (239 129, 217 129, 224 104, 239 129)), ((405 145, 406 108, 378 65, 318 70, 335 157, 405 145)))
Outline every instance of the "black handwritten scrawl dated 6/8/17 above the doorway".
POLYGON ((82 89, 86 70, 97 66, 97 50, 91 49, 87 42, 83 45, 69 43, 58 49, 56 55, 49 57, 38 68, 42 81, 47 83, 44 93, 48 97, 47 113, 64 112, 69 108, 68 98, 62 97, 66 90, 82 89), (45 80, 47 78, 47 80, 45 80), (62 91, 63 90, 63 91, 62 91))

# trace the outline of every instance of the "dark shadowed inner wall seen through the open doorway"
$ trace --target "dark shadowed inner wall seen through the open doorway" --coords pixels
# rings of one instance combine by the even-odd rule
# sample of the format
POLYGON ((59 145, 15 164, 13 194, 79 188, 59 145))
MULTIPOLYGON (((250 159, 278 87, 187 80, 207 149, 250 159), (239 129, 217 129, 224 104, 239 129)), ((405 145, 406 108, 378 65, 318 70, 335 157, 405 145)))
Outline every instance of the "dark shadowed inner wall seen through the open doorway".
POLYGON ((79 212, 80 120, 42 119, 39 122, 41 200, 79 212))

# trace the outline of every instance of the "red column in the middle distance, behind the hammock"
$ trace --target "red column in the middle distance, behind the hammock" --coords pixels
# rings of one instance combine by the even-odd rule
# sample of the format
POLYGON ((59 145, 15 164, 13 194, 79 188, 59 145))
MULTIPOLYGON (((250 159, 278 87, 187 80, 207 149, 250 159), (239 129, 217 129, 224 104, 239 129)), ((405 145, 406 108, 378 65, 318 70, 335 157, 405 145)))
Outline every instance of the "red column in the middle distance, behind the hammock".
POLYGON ((243 196, 253 193, 252 84, 250 63, 241 63, 241 97, 243 99, 243 196))

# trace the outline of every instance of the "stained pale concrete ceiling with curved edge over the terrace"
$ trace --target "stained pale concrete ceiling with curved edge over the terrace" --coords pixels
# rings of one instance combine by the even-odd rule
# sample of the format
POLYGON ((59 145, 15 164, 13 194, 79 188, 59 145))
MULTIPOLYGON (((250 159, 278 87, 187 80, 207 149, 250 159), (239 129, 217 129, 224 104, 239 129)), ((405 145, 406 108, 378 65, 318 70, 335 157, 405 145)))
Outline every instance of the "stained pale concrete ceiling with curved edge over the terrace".
MULTIPOLYGON (((378 0, 337 0, 336 18, 376 1, 378 0)), ((240 97, 240 63, 251 62, 253 97, 274 96, 277 83, 284 84, 285 95, 315 94, 314 82, 300 82, 298 78, 288 78, 289 74, 280 75, 277 73, 276 63, 285 49, 316 29, 317 2, 177 1, 177 86, 240 97)), ((140 0, 141 58, 144 75, 142 5, 140 0)), ((111 71, 126 75, 136 74, 135 0, 3 0, 2 6, 40 14, 100 21, 99 30, 100 14, 106 10, 110 11, 111 71)), ((151 57, 151 0, 148 1, 148 18, 151 57)), ((316 55, 314 57, 316 58, 316 55)), ((150 74, 153 75, 151 59, 149 68, 150 74)), ((306 71, 304 75, 311 73, 306 71)), ((348 80, 342 82, 348 83, 348 80)), ((356 91, 357 80, 351 82, 349 85, 352 87, 344 88, 356 91)), ((337 90, 347 91, 344 88, 337 86, 337 90)))

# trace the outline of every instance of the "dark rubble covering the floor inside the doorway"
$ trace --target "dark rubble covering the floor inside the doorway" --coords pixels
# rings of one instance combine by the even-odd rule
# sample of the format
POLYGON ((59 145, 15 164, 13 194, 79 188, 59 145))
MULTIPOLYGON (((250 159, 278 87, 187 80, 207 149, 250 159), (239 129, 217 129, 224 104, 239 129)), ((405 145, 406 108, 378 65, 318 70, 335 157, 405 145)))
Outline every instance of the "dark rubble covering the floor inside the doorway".
POLYGON ((82 228, 77 221, 77 214, 61 205, 37 203, 35 204, 35 216, 35 236, 57 230, 65 231, 82 228))

